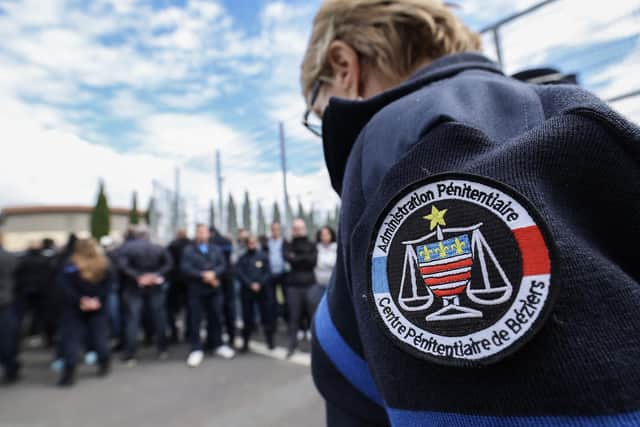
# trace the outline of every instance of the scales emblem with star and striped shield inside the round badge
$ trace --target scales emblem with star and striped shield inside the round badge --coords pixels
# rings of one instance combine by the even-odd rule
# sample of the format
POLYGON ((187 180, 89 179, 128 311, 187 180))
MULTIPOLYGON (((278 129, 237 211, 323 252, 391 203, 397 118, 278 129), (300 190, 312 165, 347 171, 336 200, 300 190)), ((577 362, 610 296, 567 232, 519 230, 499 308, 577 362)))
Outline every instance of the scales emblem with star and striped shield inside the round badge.
POLYGON ((429 221, 429 233, 402 242, 405 255, 398 304, 406 311, 422 311, 436 298, 442 299, 443 306, 427 315, 427 322, 481 318, 482 311, 461 305, 460 296, 466 294, 480 306, 498 305, 511 298, 513 286, 482 234, 482 223, 445 228, 446 213, 447 209, 432 205, 431 213, 423 217, 429 221), (478 280, 472 280, 475 263, 480 267, 478 280), (499 276, 493 283, 491 265, 499 276), (426 287, 426 293, 419 286, 426 287))

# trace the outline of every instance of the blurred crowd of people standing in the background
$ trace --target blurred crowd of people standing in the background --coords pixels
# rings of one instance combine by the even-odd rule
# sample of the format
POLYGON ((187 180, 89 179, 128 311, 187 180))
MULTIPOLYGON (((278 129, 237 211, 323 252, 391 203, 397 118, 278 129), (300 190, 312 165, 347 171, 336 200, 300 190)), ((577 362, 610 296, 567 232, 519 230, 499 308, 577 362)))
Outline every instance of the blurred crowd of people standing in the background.
POLYGON ((4 382, 20 378, 24 337, 41 337, 51 349, 60 386, 74 384, 81 358, 100 376, 110 372, 113 353, 135 366, 141 342, 154 345, 163 360, 184 341, 193 368, 208 355, 232 359, 249 350, 257 325, 269 350, 286 325, 291 357, 298 340, 310 335, 336 243, 328 226, 310 238, 302 219, 290 231, 287 240, 273 223, 269 236, 241 229, 229 238, 198 224, 193 239, 180 229, 164 247, 140 226, 122 243, 71 235, 62 248, 44 239, 22 254, 2 249, 0 234, 4 382))

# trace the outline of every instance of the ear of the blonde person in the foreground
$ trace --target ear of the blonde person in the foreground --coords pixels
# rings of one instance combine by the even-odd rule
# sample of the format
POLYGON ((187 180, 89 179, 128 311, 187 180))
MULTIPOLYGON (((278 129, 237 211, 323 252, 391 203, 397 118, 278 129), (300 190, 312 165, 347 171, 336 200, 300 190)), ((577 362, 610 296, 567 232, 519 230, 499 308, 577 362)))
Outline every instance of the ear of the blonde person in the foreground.
POLYGON ((329 65, 333 70, 336 87, 350 99, 360 96, 360 61, 358 53, 347 43, 334 40, 329 45, 329 65))

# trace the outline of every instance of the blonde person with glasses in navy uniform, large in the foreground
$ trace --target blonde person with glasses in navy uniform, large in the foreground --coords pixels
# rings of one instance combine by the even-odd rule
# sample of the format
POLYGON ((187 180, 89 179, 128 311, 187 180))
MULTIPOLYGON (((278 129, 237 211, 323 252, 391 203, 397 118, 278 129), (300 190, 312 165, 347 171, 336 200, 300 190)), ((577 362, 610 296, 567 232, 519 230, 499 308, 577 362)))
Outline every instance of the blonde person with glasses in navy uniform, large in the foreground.
POLYGON ((327 423, 640 425, 640 275, 599 220, 640 238, 640 131, 480 48, 438 0, 314 19, 303 123, 342 198, 312 344, 327 423))

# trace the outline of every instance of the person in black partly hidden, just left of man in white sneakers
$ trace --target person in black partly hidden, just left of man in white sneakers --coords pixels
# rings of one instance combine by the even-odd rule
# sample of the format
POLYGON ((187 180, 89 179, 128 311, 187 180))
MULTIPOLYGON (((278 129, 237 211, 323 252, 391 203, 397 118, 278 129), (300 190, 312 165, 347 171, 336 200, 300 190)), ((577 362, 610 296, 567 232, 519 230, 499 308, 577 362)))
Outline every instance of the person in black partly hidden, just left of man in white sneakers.
POLYGON ((174 343, 179 341, 178 327, 176 326, 177 316, 187 301, 187 286, 180 272, 180 261, 182 260, 184 249, 190 244, 191 240, 187 237, 187 230, 180 228, 176 232, 175 240, 167 248, 173 260, 173 268, 169 274, 169 290, 167 291, 167 314, 169 329, 171 330, 171 341, 174 343))

